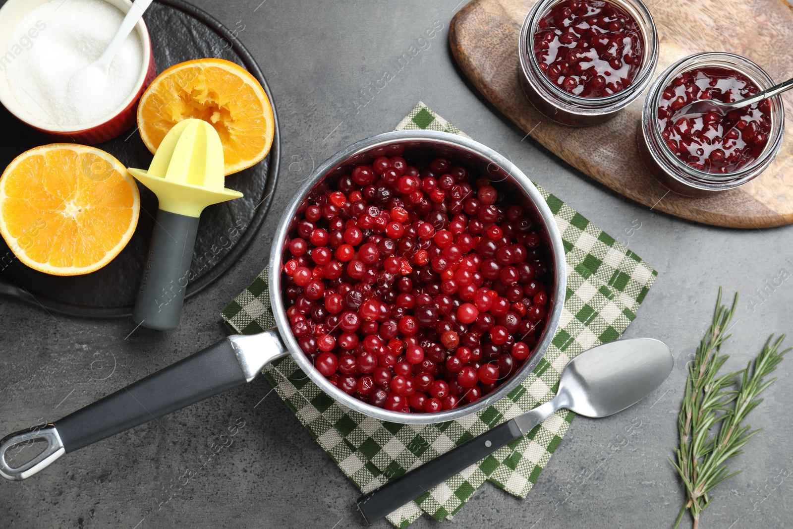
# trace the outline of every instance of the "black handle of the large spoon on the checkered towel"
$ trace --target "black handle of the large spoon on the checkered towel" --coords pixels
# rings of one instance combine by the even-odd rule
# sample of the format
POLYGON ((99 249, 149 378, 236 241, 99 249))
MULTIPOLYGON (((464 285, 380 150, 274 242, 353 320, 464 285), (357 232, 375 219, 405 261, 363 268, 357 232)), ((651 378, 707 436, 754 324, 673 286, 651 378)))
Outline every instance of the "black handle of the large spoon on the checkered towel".
POLYGON ((515 420, 508 420, 467 443, 452 448, 446 454, 424 463, 419 468, 389 481, 373 493, 361 496, 358 498, 358 509, 368 523, 373 523, 499 448, 505 447, 520 435, 522 434, 515 420))

